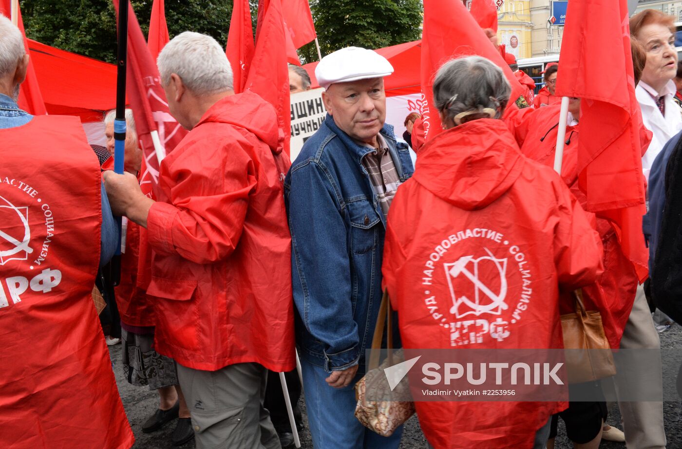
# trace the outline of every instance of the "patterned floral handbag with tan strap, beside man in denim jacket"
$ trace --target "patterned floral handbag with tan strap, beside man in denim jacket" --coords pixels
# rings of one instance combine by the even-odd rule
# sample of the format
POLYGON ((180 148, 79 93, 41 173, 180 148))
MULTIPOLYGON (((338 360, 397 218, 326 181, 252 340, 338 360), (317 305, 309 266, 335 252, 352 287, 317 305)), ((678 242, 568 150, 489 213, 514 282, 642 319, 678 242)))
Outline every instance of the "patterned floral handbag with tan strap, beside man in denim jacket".
POLYGON ((368 401, 366 391, 372 390, 374 397, 409 397, 409 384, 406 379, 400 382, 391 391, 383 369, 394 365, 393 349, 393 326, 391 319, 391 307, 388 292, 384 292, 379 308, 379 318, 376 320, 374 337, 372 338, 372 353, 370 354, 369 367, 379 365, 379 353, 381 339, 383 338, 384 326, 387 327, 387 346, 389 349, 387 359, 379 367, 371 369, 357 384, 355 384, 355 418, 365 427, 379 433, 383 437, 389 437, 415 413, 413 401, 368 401))

